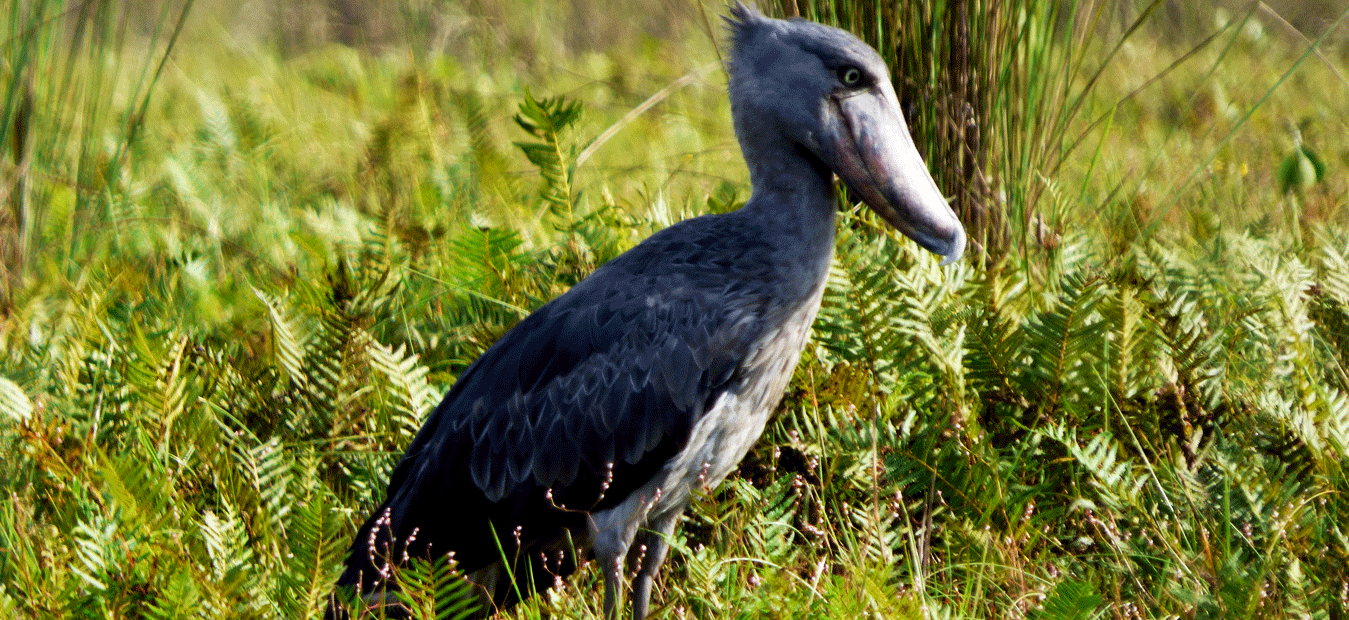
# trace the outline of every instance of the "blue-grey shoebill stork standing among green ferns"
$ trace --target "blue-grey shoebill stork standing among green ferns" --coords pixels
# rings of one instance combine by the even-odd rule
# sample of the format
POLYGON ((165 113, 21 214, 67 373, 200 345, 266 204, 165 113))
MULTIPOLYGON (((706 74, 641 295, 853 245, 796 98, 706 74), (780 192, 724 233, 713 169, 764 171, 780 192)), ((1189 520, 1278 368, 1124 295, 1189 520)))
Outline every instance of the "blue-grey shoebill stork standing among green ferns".
MULTIPOLYGON (((390 600, 399 558, 453 553, 487 611, 594 558, 604 609, 646 615, 695 487, 758 441, 820 307, 838 175, 919 245, 965 230, 928 175, 881 57, 737 3, 731 113, 753 194, 669 226, 521 321, 426 419, 339 585, 390 600)), ((393 611, 393 609, 390 609, 393 611)))

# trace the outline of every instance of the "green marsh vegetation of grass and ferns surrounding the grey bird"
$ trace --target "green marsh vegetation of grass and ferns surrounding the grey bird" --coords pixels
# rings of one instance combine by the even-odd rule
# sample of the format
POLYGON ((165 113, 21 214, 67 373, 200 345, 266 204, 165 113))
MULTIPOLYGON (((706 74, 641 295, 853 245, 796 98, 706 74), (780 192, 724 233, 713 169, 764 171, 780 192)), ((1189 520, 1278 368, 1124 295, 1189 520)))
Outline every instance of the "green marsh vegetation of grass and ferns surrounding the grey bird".
MULTIPOLYGON (((746 198, 722 7, 657 4, 401 3, 356 40, 360 3, 294 3, 304 31, 5 5, 0 615, 317 615, 457 372, 746 198)), ((890 55, 983 252, 942 270, 842 205, 815 344, 672 540, 656 613, 1342 617, 1336 30, 792 7, 890 55), (1283 191, 1302 148, 1323 177, 1283 191)), ((463 611, 444 565, 409 570, 428 617, 463 611)), ((511 615, 599 617, 598 581, 511 615)))

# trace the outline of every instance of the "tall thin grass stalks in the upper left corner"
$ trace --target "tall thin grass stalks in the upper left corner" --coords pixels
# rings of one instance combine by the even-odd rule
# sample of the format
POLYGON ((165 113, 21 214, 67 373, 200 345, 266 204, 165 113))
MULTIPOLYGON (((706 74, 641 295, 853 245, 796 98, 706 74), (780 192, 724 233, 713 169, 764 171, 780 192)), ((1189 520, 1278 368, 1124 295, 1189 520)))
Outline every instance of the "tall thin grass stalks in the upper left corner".
POLYGON ((192 3, 165 3, 147 31, 142 12, 115 3, 8 4, 0 301, 34 275, 38 248, 78 278, 82 259, 117 243, 131 216, 124 171, 192 3))

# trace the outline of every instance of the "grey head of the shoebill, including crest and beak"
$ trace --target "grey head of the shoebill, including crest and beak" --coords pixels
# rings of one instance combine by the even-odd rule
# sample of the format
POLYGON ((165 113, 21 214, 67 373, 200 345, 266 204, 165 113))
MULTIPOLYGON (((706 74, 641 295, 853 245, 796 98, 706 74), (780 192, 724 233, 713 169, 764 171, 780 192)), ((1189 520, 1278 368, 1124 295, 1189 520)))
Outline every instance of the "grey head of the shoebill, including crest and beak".
POLYGON ((839 28, 770 19, 741 3, 727 23, 731 108, 745 150, 785 137, 943 264, 959 259, 965 228, 913 146, 881 55, 839 28))

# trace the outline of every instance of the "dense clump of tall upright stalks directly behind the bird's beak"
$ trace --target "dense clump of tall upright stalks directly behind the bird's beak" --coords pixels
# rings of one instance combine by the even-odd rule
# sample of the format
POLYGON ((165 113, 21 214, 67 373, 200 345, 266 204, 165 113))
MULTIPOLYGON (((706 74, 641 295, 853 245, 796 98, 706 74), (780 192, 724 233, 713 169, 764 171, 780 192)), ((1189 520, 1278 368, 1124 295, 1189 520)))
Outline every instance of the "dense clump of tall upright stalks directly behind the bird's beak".
POLYGON ((1086 59, 1109 62, 1101 39, 1091 36, 1102 30, 1105 4, 804 4, 812 19, 858 32, 882 50, 911 131, 939 183, 952 189, 952 206, 979 255, 996 260, 1044 241, 1041 230, 1056 213, 1040 197, 1067 155, 1068 132, 1090 94, 1094 77, 1086 59))

